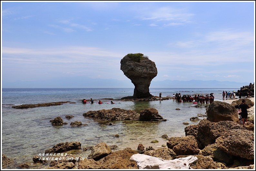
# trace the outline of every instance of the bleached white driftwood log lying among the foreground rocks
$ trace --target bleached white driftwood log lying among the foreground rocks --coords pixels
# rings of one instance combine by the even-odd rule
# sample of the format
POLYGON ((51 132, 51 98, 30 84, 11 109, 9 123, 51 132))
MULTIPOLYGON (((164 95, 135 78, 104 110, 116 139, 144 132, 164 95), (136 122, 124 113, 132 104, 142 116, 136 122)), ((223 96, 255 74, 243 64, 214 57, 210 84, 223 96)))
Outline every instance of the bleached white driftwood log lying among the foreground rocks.
POLYGON ((195 156, 164 160, 145 154, 134 154, 130 161, 135 161, 139 169, 189 169, 189 165, 198 160, 195 156))

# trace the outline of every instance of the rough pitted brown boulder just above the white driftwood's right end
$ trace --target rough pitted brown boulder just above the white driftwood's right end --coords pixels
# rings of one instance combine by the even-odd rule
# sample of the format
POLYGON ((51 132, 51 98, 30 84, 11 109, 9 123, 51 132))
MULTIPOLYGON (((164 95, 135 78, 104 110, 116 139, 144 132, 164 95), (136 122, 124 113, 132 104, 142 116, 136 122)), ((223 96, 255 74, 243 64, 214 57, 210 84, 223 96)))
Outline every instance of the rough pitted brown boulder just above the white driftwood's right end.
POLYGON ((171 137, 166 143, 169 149, 172 149, 177 155, 193 155, 198 154, 198 143, 194 136, 171 137))

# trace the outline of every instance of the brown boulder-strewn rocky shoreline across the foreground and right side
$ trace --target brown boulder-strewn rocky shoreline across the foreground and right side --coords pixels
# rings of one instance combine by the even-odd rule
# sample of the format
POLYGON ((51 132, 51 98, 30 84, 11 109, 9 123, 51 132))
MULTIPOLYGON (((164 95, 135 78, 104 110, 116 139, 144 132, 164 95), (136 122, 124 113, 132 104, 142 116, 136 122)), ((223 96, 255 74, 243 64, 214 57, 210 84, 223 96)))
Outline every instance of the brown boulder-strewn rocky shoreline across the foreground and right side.
MULTIPOLYGON (((43 160, 43 156, 34 156, 34 163, 26 162, 18 168, 44 165, 49 169, 138 169, 138 163, 130 158, 139 153, 164 161, 194 156, 197 160, 190 164, 190 168, 194 169, 254 169, 254 98, 249 99, 253 104, 248 109, 248 122, 245 125, 238 123, 235 109, 237 99, 215 101, 206 110, 207 119, 185 127, 185 137, 169 138, 163 135, 162 138, 168 140, 167 147, 163 144, 157 149, 150 146, 145 149, 143 144, 138 143, 137 149, 118 150, 118 147, 101 142, 94 147, 85 147, 84 150, 91 150, 91 154, 83 158, 78 152, 82 150, 80 142, 62 142, 45 150, 45 154, 64 153, 67 154, 65 158, 49 161, 43 160)), ((88 115, 95 116, 95 111, 90 111, 88 115)), ((3 168, 13 163, 2 155, 3 168)))

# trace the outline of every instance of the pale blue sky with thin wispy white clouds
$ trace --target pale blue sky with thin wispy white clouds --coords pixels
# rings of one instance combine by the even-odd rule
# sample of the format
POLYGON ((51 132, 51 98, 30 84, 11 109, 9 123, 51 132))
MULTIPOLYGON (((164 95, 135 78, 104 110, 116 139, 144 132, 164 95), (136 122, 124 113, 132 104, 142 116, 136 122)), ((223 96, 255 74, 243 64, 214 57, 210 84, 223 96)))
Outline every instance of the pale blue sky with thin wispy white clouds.
POLYGON ((153 81, 254 82, 254 10, 254 1, 1 1, 1 81, 127 80, 121 59, 143 53, 153 81))

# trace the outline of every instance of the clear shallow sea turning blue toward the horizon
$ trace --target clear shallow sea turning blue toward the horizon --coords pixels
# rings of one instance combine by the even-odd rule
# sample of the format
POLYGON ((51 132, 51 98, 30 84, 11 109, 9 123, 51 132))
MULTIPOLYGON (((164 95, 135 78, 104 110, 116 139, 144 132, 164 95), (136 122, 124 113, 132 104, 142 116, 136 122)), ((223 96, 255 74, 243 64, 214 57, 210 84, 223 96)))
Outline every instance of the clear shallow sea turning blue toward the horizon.
MULTIPOLYGON (((222 99, 222 91, 237 91, 240 88, 150 88, 153 96, 172 97, 173 94, 205 95, 213 93, 215 99, 229 103, 222 99)), ((45 150, 52 148, 60 142, 78 141, 82 149, 75 155, 87 158, 90 150, 84 148, 94 146, 99 142, 107 145, 117 145, 119 150, 124 148, 137 149, 139 143, 145 148, 152 146, 154 149, 166 145, 167 140, 161 138, 163 134, 168 137, 185 136, 184 128, 187 125, 198 124, 198 121, 190 121, 191 117, 205 114, 208 104, 199 105, 191 102, 178 103, 175 100, 158 101, 121 101, 122 97, 132 96, 133 88, 3 88, 2 89, 2 154, 14 159, 15 165, 7 168, 19 168, 24 162, 33 163, 35 155, 43 154, 45 150), (94 99, 94 104, 81 103, 82 99, 94 99), (110 98, 113 98, 110 99, 110 98), (96 102, 101 100, 102 104, 96 102), (64 103, 59 106, 35 107, 27 109, 15 109, 12 106, 24 104, 38 104, 59 101, 64 103), (115 104, 111 104, 113 101, 115 104), (93 118, 84 117, 88 111, 101 109, 122 108, 139 112, 153 107, 167 121, 95 121, 93 118), (180 110, 176 110, 176 109, 180 110), (71 119, 66 115, 73 115, 71 119), (53 126, 51 119, 60 116, 68 124, 53 126), (71 122, 81 121, 87 126, 72 127, 71 122), (110 125, 112 123, 112 125, 110 125), (118 134, 119 137, 116 137, 118 134), (151 143, 158 140, 158 143, 151 143)), ((205 117, 199 117, 203 119, 205 117)), ((39 165, 38 168, 49 166, 39 165)))

